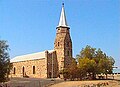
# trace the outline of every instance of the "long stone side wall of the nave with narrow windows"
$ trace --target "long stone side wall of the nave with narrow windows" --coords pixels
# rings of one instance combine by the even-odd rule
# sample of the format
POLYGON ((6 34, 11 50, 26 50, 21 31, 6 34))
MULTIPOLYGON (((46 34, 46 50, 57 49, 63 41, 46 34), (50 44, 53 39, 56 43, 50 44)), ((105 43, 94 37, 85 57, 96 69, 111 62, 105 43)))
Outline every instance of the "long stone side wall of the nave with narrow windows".
POLYGON ((29 77, 37 77, 37 78, 46 78, 47 66, 45 64, 45 58, 39 60, 30 60, 23 62, 15 62, 13 63, 13 69, 11 71, 11 77, 23 77, 23 75, 29 77), (33 66, 35 66, 35 74, 33 74, 33 66), (14 74, 15 67, 15 74, 14 74), (23 73, 24 67, 24 73, 23 73))

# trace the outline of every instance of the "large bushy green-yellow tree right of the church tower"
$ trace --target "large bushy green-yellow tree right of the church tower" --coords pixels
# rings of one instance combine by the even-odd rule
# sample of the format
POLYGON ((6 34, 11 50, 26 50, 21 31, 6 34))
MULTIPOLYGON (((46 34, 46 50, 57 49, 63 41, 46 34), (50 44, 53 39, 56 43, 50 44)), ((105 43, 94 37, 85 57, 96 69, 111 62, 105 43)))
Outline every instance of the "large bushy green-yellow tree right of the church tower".
POLYGON ((78 59, 79 71, 82 70, 81 75, 92 74, 92 79, 95 79, 96 74, 107 74, 112 73, 113 65, 115 63, 112 57, 107 56, 100 48, 92 48, 91 46, 86 46, 83 48, 76 56, 78 59))

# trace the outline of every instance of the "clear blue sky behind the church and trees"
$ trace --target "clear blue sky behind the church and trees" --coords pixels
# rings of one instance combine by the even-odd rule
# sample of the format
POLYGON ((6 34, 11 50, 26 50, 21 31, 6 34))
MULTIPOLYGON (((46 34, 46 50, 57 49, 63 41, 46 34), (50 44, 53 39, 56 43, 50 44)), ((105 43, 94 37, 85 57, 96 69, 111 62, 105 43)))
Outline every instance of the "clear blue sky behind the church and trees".
POLYGON ((11 58, 54 48, 62 2, 74 57, 90 45, 120 66, 120 0, 0 0, 0 39, 11 58))

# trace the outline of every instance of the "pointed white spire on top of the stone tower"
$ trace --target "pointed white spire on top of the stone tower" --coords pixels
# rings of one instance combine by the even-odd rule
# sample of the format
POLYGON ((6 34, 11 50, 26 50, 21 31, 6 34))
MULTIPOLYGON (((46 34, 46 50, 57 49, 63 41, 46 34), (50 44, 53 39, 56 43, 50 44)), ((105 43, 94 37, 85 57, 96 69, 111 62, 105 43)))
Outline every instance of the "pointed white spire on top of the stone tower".
POLYGON ((60 21, 57 27, 68 27, 67 21, 66 21, 66 15, 65 15, 65 10, 64 10, 64 3, 62 3, 62 11, 60 15, 60 21))

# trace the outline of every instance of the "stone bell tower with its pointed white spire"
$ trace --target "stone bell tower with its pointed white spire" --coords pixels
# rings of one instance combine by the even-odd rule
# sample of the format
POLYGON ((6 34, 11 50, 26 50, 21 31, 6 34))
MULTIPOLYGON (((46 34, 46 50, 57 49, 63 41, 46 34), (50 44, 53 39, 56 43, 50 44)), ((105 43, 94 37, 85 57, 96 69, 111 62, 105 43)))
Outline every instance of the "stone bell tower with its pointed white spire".
POLYGON ((59 70, 67 68, 72 59, 72 41, 69 30, 70 27, 67 25, 64 4, 62 4, 60 21, 56 28, 56 38, 54 42, 54 50, 57 54, 59 70))

